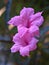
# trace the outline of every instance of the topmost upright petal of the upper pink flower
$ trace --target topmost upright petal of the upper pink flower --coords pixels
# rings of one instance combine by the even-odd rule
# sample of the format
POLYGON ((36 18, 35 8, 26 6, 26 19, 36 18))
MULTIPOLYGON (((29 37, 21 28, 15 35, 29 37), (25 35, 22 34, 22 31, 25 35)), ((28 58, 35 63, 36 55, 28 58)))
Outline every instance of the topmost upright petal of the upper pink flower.
POLYGON ((26 8, 24 7, 21 11, 20 11, 20 16, 22 18, 22 24, 24 26, 28 25, 28 20, 29 20, 29 16, 32 15, 34 13, 34 9, 33 8, 26 8))

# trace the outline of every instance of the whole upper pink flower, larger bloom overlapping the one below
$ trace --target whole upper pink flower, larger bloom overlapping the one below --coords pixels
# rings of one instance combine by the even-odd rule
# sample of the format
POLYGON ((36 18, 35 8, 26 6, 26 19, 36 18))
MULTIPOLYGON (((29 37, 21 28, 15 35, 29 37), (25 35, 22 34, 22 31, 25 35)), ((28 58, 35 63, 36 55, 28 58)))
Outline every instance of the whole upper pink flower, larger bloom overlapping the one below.
POLYGON ((21 37, 26 34, 26 32, 29 32, 32 36, 39 36, 39 26, 41 26, 44 21, 41 14, 42 12, 34 14, 34 9, 24 7, 20 11, 20 16, 11 18, 8 23, 18 26, 18 32, 21 37))

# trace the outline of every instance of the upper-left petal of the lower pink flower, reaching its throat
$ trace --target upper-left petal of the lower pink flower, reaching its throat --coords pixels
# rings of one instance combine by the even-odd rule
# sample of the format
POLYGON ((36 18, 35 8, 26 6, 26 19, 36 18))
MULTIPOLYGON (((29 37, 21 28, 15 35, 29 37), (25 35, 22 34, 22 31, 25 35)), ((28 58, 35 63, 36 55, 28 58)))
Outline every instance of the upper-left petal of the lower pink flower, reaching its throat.
POLYGON ((26 45, 26 43, 24 42, 24 38, 20 38, 19 33, 15 34, 13 36, 13 42, 15 44, 19 44, 21 46, 25 46, 26 45))

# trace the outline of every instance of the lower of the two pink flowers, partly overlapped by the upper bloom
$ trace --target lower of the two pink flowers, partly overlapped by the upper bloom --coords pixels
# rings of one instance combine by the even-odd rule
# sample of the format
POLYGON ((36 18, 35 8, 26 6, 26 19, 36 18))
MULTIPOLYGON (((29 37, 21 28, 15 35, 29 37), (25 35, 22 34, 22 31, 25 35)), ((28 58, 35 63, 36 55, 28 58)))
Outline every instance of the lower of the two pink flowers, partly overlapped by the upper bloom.
POLYGON ((20 38, 19 33, 17 33, 13 37, 13 42, 15 44, 11 48, 12 53, 19 51, 20 55, 29 56, 29 52, 37 48, 36 44, 38 40, 35 37, 32 37, 29 33, 23 38, 20 38))

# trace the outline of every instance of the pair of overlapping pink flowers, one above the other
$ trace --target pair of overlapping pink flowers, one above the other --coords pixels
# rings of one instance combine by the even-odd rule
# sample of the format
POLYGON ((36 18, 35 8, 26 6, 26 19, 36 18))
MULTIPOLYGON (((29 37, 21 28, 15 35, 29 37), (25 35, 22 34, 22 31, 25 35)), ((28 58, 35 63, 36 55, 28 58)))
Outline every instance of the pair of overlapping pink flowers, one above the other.
POLYGON ((34 13, 33 8, 24 7, 19 16, 14 16, 8 24, 16 26, 18 33, 13 36, 15 43, 11 47, 11 52, 20 52, 22 56, 29 56, 29 52, 37 48, 38 40, 35 36, 40 36, 39 27, 42 25, 44 18, 42 12, 34 13))

